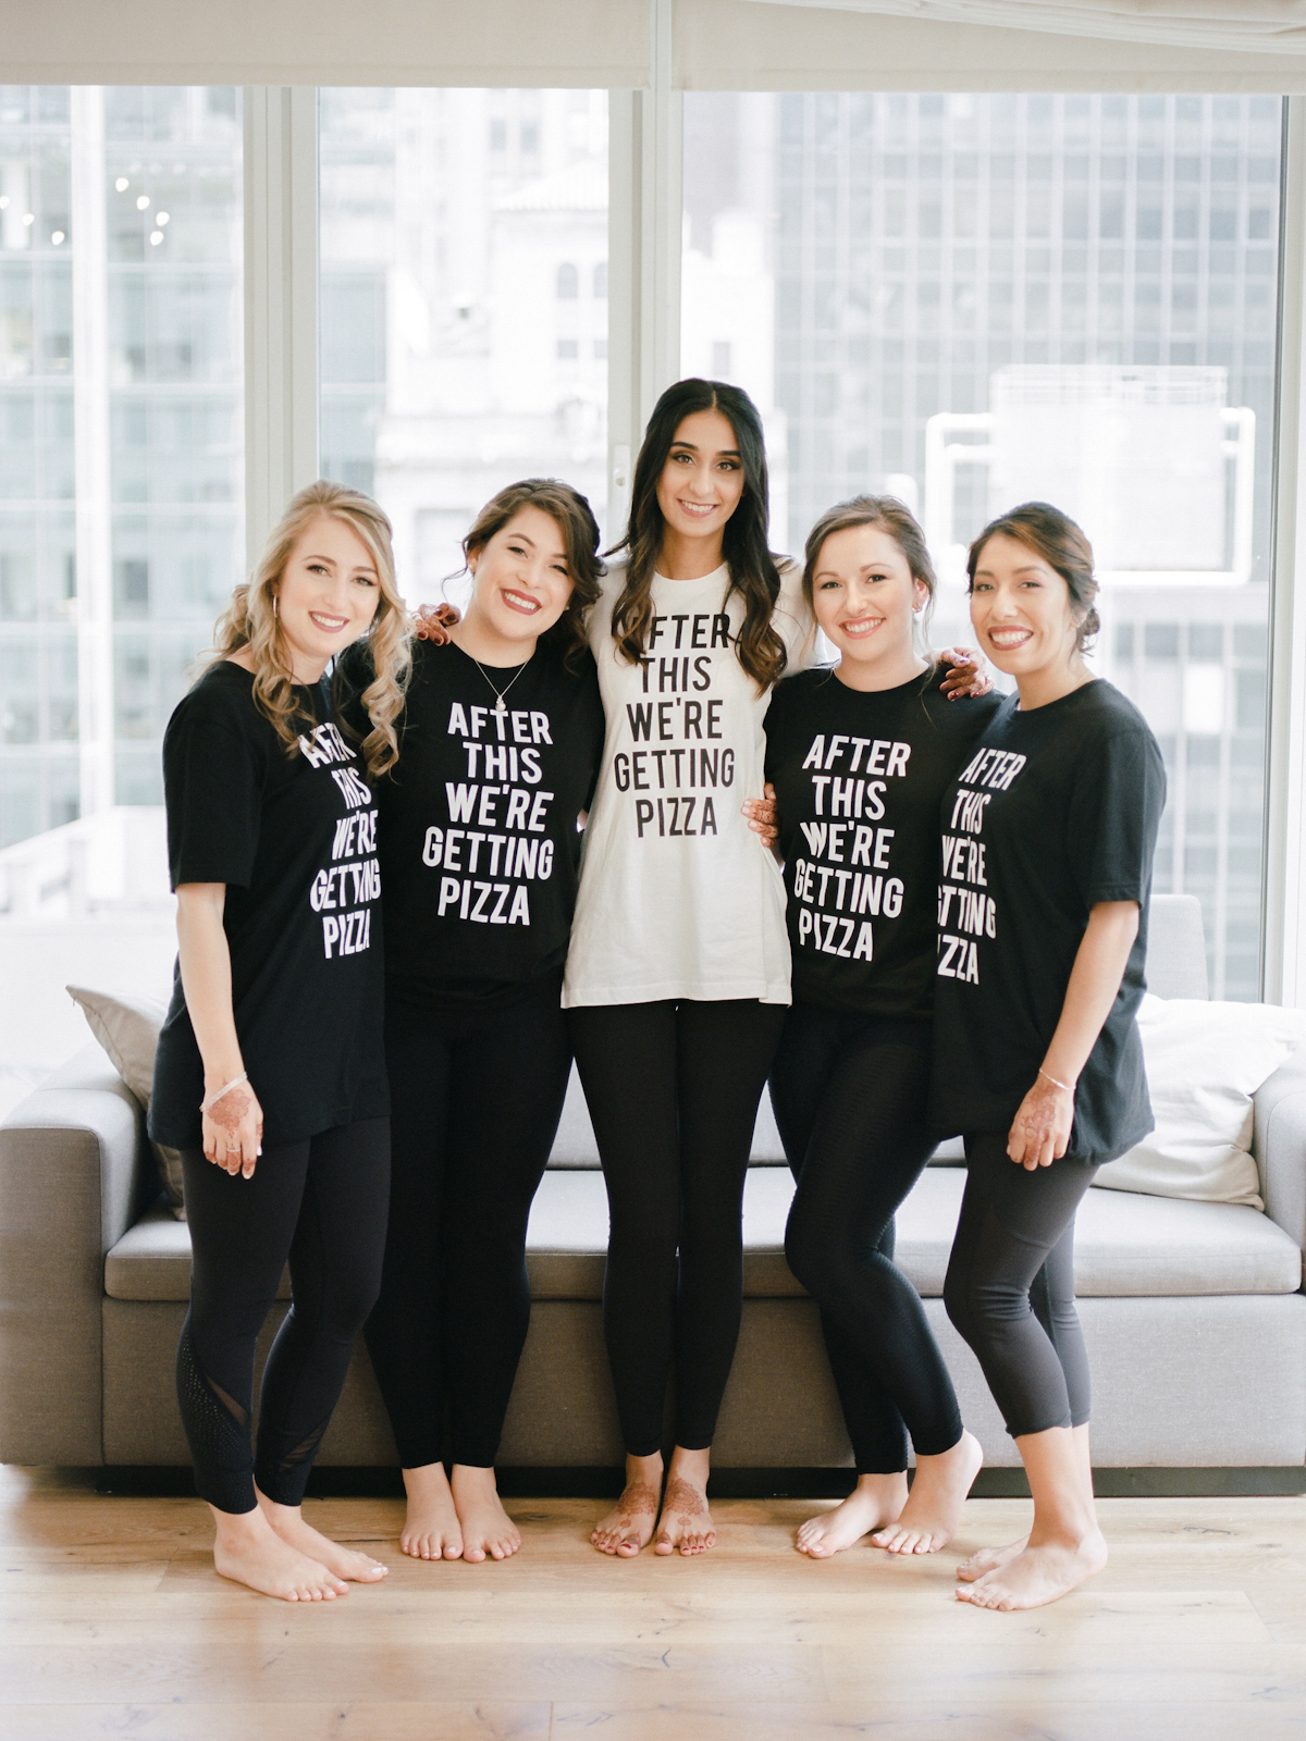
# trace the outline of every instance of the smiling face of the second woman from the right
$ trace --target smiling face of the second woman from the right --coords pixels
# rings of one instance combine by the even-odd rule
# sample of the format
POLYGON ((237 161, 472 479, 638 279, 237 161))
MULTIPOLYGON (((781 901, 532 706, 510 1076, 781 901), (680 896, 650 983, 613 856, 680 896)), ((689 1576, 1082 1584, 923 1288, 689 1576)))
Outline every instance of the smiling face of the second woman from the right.
POLYGON ((831 533, 811 575, 811 609, 843 660, 864 669, 904 667, 904 676, 890 681, 905 682, 921 669, 912 649, 912 611, 928 595, 897 538, 881 526, 831 533))

